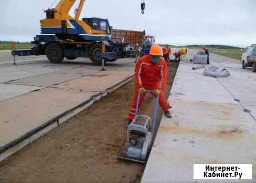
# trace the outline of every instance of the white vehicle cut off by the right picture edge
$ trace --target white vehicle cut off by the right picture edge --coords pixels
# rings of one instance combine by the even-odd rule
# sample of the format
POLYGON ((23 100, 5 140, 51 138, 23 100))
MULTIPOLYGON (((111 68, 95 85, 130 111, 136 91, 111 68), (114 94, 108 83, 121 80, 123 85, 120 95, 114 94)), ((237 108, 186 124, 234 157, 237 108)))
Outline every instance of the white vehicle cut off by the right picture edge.
POLYGON ((256 72, 256 44, 246 48, 241 58, 242 68, 251 67, 252 72, 256 72))

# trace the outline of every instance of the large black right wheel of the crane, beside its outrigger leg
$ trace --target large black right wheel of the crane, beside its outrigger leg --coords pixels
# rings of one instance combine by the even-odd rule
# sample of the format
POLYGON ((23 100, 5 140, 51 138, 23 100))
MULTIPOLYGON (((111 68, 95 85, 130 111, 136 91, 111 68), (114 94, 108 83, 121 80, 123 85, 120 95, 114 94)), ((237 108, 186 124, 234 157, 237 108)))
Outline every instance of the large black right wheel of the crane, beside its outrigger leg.
MULTIPOLYGON (((89 49, 89 58, 91 59, 91 62, 95 65, 101 65, 101 43, 93 44, 89 49)), ((105 61, 106 63, 106 61, 105 61)))

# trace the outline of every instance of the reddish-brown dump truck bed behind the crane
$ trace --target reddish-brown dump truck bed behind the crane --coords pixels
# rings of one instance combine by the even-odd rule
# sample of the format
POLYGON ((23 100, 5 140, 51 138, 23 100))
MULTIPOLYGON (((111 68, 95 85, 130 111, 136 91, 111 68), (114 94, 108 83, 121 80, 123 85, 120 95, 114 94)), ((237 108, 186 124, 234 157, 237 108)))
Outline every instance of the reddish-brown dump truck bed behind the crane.
POLYGON ((142 45, 145 31, 128 31, 120 29, 112 29, 111 39, 114 42, 125 43, 125 44, 139 44, 142 45))

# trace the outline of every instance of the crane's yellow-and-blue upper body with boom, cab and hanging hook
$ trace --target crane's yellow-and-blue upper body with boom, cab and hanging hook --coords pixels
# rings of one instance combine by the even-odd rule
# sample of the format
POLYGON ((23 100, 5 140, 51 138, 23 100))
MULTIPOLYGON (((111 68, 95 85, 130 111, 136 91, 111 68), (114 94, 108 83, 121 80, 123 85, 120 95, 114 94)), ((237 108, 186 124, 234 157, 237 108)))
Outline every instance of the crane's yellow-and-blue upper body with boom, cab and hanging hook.
MULTIPOLYGON (((107 19, 83 18, 79 20, 85 0, 80 0, 75 11, 75 18, 69 15, 69 11, 76 0, 59 0, 53 9, 46 10, 46 19, 40 21, 41 33, 55 34, 59 38, 80 40, 107 40, 111 34, 111 27, 107 19), (95 37, 99 36, 99 37, 95 37)), ((141 10, 144 13, 145 0, 142 0, 141 10)))

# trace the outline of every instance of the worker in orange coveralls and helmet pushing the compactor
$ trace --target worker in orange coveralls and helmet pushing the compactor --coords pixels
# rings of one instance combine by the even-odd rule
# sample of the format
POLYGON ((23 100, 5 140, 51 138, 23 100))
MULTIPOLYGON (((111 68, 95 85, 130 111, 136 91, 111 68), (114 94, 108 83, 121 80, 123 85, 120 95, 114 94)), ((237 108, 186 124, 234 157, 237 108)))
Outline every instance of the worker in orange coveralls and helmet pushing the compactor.
POLYGON ((142 104, 146 90, 153 90, 155 97, 159 94, 159 104, 164 110, 164 115, 171 118, 171 106, 165 99, 163 91, 167 82, 167 63, 161 58, 161 47, 153 45, 150 48, 149 55, 141 57, 135 67, 135 93, 133 103, 128 116, 127 128, 135 116, 138 94, 140 93, 139 106, 142 104))

